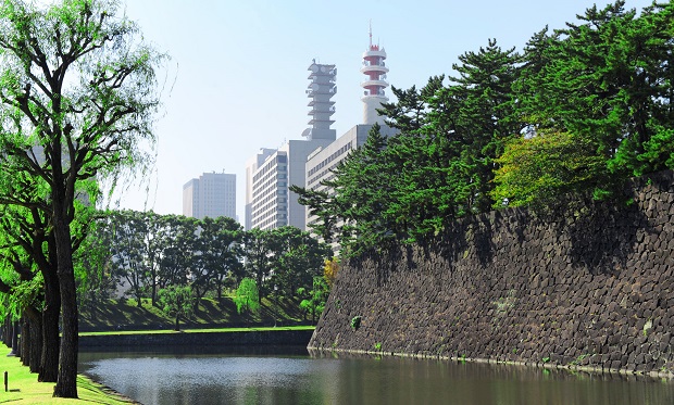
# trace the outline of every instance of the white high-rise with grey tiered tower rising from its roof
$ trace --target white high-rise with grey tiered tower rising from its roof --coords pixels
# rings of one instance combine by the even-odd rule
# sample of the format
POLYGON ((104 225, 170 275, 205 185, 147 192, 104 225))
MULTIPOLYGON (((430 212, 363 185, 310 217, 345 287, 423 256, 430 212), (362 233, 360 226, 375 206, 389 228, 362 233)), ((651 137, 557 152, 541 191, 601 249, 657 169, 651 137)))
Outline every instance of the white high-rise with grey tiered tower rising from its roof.
POLYGON ((249 160, 246 169, 246 229, 274 229, 291 225, 305 229, 307 208, 298 195, 290 193, 290 185, 305 183, 307 157, 317 148, 330 144, 336 138, 330 116, 337 91, 335 65, 312 63, 307 96, 310 99, 310 128, 302 134, 305 140, 290 140, 277 150, 263 149, 249 160), (250 192, 250 195, 248 194, 250 192))

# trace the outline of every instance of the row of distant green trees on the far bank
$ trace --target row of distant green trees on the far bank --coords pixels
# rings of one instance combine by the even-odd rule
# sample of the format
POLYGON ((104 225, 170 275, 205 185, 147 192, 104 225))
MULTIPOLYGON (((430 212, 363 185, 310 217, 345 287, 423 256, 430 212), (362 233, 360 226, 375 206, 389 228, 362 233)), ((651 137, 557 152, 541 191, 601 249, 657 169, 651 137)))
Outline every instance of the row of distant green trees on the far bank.
POLYGON ((292 298, 311 289, 332 253, 298 228, 245 231, 228 217, 113 211, 101 215, 92 233, 78 279, 79 298, 91 308, 117 291, 139 306, 142 299, 157 305, 159 292, 176 286, 189 287, 196 299, 222 300, 245 278, 257 283, 258 300, 292 298))

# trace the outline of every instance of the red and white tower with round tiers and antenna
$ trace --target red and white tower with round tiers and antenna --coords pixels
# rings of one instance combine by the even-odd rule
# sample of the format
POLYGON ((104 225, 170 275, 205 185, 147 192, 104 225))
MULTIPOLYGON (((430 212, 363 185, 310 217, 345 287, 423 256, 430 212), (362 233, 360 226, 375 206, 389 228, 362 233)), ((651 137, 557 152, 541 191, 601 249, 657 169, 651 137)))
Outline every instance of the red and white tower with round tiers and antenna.
POLYGON ((363 124, 384 124, 384 118, 377 114, 377 109, 383 102, 388 101, 384 89, 388 87, 386 81, 386 51, 379 49, 379 45, 372 43, 372 25, 370 26, 370 48, 363 53, 363 67, 361 72, 367 76, 361 86, 365 89, 363 100, 363 124))

